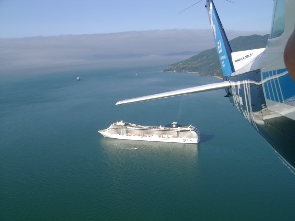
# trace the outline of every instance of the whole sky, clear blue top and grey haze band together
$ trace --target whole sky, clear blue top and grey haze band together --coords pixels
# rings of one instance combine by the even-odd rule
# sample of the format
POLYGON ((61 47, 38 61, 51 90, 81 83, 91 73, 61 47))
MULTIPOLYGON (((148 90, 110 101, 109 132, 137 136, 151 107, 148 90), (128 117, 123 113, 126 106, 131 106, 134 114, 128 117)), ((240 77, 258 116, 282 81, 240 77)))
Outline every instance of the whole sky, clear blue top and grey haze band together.
MULTIPOLYGON (((229 39, 269 33, 273 0, 215 1, 229 39)), ((196 2, 0 0, 0 75, 213 48, 205 0, 178 14, 196 2)))

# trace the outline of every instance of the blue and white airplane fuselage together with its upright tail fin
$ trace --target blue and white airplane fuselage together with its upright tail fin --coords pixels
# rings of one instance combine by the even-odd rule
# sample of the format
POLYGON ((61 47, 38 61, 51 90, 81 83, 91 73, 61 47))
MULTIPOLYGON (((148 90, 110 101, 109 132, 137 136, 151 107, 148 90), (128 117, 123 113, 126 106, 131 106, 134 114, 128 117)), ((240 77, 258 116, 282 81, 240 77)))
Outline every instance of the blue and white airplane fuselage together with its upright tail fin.
POLYGON ((212 31, 224 80, 231 85, 227 96, 295 173, 295 82, 283 59, 294 30, 294 8, 294 0, 276 0, 266 48, 233 53, 215 6, 207 0, 210 21, 219 26, 219 35, 212 31))

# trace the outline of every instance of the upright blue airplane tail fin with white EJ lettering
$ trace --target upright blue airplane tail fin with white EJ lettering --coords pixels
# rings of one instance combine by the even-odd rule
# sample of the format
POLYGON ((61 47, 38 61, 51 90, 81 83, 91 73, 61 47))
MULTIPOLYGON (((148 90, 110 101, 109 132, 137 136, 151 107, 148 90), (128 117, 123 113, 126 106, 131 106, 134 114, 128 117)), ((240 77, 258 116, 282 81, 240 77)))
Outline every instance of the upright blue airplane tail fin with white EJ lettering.
POLYGON ((209 14, 223 79, 227 80, 227 77, 234 72, 234 65, 231 56, 232 49, 220 22, 213 0, 206 0, 206 8, 209 14))

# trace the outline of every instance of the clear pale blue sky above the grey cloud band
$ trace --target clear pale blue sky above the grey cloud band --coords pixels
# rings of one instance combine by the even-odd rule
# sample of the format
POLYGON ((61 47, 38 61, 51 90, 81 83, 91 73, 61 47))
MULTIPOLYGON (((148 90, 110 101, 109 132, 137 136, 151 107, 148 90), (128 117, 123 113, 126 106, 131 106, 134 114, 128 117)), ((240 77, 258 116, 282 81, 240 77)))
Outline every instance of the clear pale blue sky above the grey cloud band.
MULTIPOLYGON (((208 29, 205 0, 0 0, 0 38, 208 29)), ((269 30, 273 0, 215 0, 227 30, 269 30)))

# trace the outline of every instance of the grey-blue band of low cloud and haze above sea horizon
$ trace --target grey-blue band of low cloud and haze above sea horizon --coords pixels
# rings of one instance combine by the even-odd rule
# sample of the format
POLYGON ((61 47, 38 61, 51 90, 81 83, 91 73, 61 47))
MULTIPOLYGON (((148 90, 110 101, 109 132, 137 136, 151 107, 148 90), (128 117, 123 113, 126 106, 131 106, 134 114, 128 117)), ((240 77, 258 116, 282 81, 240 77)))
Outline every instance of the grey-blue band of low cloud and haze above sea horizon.
MULTIPOLYGON (((266 34, 265 32, 255 32, 266 34)), ((251 31, 227 32, 229 39, 251 35, 251 31)), ((60 35, 51 37, 0 39, 0 75, 12 70, 42 68, 92 68, 118 64, 118 59, 130 58, 167 59, 169 53, 200 52, 214 47, 213 35, 206 30, 150 30, 109 34, 60 35), (86 65, 86 66, 85 66, 86 65)), ((196 54, 196 53, 195 53, 196 54)), ((182 60, 189 58, 182 57, 182 60)), ((170 57, 166 64, 179 57, 170 57)), ((134 60, 135 61, 135 60, 134 60)), ((133 61, 133 62, 134 62, 133 61)), ((135 63, 139 60, 135 61, 135 63)), ((122 63, 119 64, 121 66, 122 63)))

